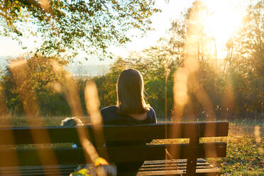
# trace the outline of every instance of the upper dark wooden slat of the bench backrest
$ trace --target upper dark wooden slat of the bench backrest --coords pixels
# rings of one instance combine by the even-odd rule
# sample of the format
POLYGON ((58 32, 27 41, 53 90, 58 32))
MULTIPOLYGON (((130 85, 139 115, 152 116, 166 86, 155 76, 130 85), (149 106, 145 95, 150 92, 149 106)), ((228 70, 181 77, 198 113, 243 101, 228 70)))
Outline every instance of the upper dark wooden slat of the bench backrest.
MULTIPOLYGON (((207 122, 182 122, 182 123, 157 123, 136 126, 104 126, 104 138, 106 141, 141 141, 151 139, 163 139, 167 126, 167 138, 190 138, 192 129, 199 126, 199 137, 228 136, 229 123, 227 121, 207 122), (133 133, 131 133, 133 131, 133 133)), ((79 126, 86 128, 90 141, 94 141, 92 126, 79 126)), ((0 128, 0 145, 13 144, 9 134, 13 134, 16 144, 29 143, 78 143, 79 138, 76 127, 47 126, 47 127, 21 127, 0 128), (39 138, 33 141, 31 133, 41 136, 48 132, 50 139, 39 138)))

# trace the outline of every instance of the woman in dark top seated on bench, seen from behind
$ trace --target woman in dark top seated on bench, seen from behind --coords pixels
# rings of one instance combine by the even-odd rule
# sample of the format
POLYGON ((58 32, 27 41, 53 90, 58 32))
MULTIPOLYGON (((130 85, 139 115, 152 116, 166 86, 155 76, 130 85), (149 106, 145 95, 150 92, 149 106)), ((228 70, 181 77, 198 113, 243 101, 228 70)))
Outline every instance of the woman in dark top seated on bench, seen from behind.
MULTIPOLYGON (((138 70, 123 70, 116 83, 117 105, 101 109, 104 125, 136 125, 156 123, 154 109, 145 103, 143 77, 138 70)), ((133 133, 133 131, 131 131, 133 133)), ((151 133, 151 131, 150 131, 151 133)), ((133 142, 145 145, 146 141, 133 142)), ((106 143, 107 146, 131 145, 127 142, 106 143)), ((122 171, 136 172, 143 163, 116 163, 118 173, 122 171)))

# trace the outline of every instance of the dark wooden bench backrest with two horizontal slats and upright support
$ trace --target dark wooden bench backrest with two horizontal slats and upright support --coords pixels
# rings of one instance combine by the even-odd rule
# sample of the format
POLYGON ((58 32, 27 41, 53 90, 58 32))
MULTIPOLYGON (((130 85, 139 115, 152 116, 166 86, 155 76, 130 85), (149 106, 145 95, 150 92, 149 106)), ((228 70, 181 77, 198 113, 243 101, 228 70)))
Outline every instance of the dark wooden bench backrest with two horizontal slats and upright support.
MULTIPOLYGON (((0 145, 34 143, 79 143, 77 128, 87 131, 90 141, 95 141, 92 126, 47 126, 0 128, 0 145), (47 137, 48 136, 48 137, 47 137)), ((165 150, 175 159, 188 159, 187 172, 195 172, 197 158, 216 158, 226 155, 225 142, 199 143, 199 138, 228 136, 227 121, 157 123, 136 126, 104 126, 104 142, 150 141, 153 139, 189 138, 189 143, 128 145, 106 148, 97 146, 97 152, 111 162, 136 162, 163 160, 165 150)), ((100 140, 97 139, 97 140, 100 140)), ((89 157, 88 157, 89 158, 89 157)), ((0 166, 18 165, 70 165, 86 163, 82 148, 0 148, 0 166), (55 158, 40 160, 49 153, 55 158), (14 162, 16 160, 17 162, 14 162)))

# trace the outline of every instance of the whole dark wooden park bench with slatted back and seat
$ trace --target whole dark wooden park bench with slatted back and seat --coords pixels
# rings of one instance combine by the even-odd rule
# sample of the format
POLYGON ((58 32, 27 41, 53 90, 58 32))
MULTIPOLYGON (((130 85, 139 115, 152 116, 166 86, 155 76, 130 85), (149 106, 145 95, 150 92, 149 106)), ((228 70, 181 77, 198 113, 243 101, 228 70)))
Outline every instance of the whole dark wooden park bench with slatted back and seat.
MULTIPOLYGON (((92 126, 0 128, 0 175, 69 175, 77 163, 86 163, 87 156, 82 148, 55 148, 56 145, 61 144, 48 145, 48 147, 45 145, 43 148, 26 148, 23 145, 79 143, 77 128, 86 130, 89 133, 89 140, 94 141, 92 126), (14 144, 18 147, 14 147, 14 144)), ((155 145, 109 148, 99 146, 97 152, 101 157, 113 163, 145 161, 138 172, 138 175, 142 176, 219 175, 219 169, 212 167, 202 158, 224 157, 226 143, 199 143, 199 139, 228 136, 228 130, 227 121, 104 126, 105 141, 189 138, 189 143, 164 144, 160 142, 155 145), (166 158, 173 158, 173 160, 165 160, 166 158)), ((123 173, 123 175, 130 175, 130 173, 123 173)))

